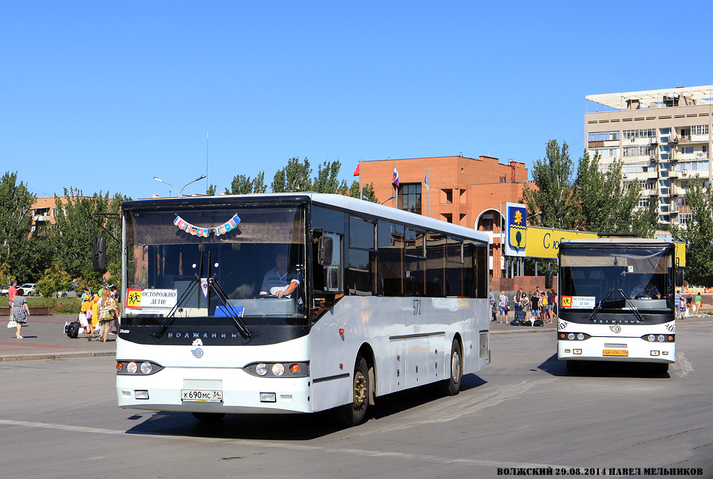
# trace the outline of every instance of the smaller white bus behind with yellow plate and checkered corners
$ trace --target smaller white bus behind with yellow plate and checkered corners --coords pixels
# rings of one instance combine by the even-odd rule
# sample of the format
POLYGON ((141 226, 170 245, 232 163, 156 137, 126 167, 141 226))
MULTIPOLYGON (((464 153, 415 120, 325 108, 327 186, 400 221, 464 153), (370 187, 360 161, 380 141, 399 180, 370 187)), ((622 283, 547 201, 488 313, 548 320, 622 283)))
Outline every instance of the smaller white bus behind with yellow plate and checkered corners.
POLYGON ((675 245, 635 237, 560 243, 557 357, 637 361, 668 371, 676 359, 675 245))

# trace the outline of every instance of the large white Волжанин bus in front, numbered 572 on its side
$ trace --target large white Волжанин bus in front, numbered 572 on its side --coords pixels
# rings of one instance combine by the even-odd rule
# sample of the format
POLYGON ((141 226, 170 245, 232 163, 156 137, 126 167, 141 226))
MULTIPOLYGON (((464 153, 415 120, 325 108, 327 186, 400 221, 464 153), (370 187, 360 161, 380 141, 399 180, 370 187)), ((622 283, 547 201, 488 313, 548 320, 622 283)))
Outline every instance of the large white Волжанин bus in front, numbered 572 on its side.
POLYGON ((483 232, 317 193, 122 211, 121 408, 201 420, 334 409, 349 426, 377 396, 457 394, 490 362, 483 232), (277 277, 297 286, 278 297, 265 276, 285 257, 277 277))

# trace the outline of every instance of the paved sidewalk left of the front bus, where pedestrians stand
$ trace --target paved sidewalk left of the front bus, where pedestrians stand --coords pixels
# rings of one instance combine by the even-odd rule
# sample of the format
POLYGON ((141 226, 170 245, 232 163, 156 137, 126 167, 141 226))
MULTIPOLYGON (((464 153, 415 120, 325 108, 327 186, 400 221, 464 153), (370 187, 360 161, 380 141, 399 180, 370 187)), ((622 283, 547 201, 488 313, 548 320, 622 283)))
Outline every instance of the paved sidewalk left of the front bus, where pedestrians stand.
POLYGON ((74 314, 29 316, 22 328, 24 339, 16 339, 16 329, 5 327, 9 317, 0 316, 0 361, 116 355, 116 336, 110 335, 108 342, 102 343, 98 339, 87 341, 81 329, 76 339, 64 334, 64 323, 76 317, 74 314))

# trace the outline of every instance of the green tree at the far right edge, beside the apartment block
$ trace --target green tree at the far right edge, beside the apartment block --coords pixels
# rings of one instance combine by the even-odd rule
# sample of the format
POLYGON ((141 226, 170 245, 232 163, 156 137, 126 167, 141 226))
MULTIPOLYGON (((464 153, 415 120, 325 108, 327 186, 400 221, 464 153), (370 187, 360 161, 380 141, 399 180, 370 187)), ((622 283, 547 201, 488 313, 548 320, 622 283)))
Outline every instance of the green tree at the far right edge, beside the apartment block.
MULTIPOLYGON (((713 192, 702 182, 689 180, 686 200, 691 220, 686 228, 672 227, 674 239, 686 243, 686 278, 691 284, 713 286, 713 192)), ((680 214, 680 213, 679 213, 680 214)))

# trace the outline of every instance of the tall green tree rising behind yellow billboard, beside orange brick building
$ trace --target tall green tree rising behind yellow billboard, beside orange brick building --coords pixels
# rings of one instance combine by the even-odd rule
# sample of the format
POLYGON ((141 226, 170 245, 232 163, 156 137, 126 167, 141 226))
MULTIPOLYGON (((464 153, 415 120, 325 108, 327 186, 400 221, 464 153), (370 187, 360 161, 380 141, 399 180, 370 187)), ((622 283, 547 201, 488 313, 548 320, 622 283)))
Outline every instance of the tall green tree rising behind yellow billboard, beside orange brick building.
POLYGON ((533 166, 536 189, 525 185, 522 201, 527 205, 537 226, 573 230, 579 214, 579 205, 574 193, 573 163, 567 142, 560 148, 557 140, 550 140, 545 149, 545 158, 536 160, 533 166))

